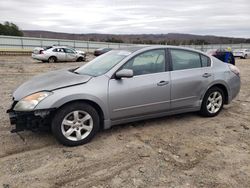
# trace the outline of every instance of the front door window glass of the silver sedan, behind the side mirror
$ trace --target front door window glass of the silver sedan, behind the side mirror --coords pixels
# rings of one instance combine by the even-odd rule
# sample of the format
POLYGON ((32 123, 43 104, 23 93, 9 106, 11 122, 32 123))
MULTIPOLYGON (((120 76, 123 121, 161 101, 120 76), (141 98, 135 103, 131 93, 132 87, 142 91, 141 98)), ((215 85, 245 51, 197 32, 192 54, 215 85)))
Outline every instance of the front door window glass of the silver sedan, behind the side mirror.
POLYGON ((151 50, 130 59, 122 69, 131 69, 134 76, 165 72, 165 50, 151 50))

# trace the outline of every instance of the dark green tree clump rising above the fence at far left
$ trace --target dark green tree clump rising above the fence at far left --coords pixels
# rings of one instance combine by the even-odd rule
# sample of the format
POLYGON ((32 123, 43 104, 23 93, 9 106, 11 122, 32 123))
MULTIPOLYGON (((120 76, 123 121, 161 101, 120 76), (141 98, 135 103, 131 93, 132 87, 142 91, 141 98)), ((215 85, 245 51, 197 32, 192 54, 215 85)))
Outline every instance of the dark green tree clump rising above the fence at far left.
POLYGON ((0 35, 9 35, 9 36, 23 36, 23 32, 19 27, 11 22, 0 23, 0 35))

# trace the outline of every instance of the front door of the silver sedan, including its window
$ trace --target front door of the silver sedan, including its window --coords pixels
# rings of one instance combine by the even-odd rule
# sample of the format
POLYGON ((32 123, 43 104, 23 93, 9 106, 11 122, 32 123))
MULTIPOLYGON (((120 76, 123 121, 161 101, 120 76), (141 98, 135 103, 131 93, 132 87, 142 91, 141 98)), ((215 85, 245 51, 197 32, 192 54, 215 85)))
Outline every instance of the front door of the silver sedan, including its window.
POLYGON ((121 69, 132 69, 132 78, 109 81, 111 120, 159 113, 170 107, 170 73, 165 50, 143 52, 121 69))

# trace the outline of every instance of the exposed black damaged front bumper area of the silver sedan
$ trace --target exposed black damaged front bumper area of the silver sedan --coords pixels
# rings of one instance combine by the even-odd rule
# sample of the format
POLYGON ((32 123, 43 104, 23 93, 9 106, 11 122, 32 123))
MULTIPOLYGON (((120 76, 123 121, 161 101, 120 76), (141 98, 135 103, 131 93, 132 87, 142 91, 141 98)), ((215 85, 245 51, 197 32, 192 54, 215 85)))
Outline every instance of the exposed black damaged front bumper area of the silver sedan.
POLYGON ((50 129, 52 115, 55 109, 20 112, 14 111, 13 106, 14 105, 7 110, 11 125, 15 125, 15 128, 11 130, 12 133, 24 130, 38 131, 50 129))

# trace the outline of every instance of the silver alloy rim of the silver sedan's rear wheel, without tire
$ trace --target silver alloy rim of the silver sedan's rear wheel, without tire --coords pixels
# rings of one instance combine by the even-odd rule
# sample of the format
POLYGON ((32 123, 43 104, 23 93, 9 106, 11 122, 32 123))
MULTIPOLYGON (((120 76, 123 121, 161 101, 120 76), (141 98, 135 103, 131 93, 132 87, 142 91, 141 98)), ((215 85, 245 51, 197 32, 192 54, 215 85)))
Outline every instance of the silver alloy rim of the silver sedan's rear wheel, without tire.
POLYGON ((214 114, 220 110, 222 106, 222 95, 220 92, 212 92, 207 100, 207 110, 209 113, 214 114))

